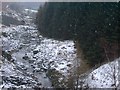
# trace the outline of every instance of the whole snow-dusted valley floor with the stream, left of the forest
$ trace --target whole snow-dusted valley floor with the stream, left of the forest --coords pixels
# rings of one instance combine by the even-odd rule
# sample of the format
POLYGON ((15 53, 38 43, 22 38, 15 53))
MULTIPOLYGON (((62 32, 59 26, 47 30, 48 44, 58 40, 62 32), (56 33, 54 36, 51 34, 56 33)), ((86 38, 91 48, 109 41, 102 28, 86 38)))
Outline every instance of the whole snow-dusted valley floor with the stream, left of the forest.
POLYGON ((38 35, 33 26, 3 28, 2 49, 12 56, 1 64, 2 87, 51 87, 49 69, 67 75, 75 59, 73 41, 57 41, 38 35))

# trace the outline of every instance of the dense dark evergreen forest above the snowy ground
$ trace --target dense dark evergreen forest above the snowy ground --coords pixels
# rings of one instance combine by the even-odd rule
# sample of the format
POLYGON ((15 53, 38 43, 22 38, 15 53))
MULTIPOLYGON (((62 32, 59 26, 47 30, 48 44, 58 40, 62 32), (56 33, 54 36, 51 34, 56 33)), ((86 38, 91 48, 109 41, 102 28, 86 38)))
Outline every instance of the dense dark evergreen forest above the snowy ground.
POLYGON ((84 57, 95 65, 111 58, 110 49, 115 45, 113 52, 120 56, 119 10, 117 2, 48 2, 39 9, 36 21, 45 37, 78 40, 84 57))

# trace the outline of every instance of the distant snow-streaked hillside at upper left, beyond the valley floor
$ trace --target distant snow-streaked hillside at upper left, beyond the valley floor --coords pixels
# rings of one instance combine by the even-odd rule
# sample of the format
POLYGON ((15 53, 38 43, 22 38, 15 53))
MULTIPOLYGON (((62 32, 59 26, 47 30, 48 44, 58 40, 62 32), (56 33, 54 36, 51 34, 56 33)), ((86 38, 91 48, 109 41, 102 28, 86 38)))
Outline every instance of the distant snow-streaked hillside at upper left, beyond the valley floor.
POLYGON ((14 8, 8 5, 4 5, 3 3, 2 8, 3 10, 0 14, 2 16, 3 24, 10 26, 10 25, 24 25, 24 24, 30 24, 30 22, 33 22, 35 15, 37 13, 37 10, 32 10, 32 9, 25 9, 22 8, 20 9, 19 6, 13 5, 14 8), (15 8, 16 7, 16 8, 15 8), (20 9, 20 10, 19 10, 20 9), (19 11, 17 11, 19 10, 19 11))

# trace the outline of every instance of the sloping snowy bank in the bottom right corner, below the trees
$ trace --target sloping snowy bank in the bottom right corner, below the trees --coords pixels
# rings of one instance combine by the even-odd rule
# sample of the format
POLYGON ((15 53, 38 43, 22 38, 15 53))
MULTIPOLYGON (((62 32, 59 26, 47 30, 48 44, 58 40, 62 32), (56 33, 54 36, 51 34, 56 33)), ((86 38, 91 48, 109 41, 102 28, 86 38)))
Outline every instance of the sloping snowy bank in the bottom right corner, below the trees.
MULTIPOLYGON (((92 71, 79 85, 87 88, 119 88, 120 89, 120 58, 109 62, 92 71), (81 83, 81 84, 80 84, 81 83)), ((81 86, 79 86, 81 87, 81 86)))

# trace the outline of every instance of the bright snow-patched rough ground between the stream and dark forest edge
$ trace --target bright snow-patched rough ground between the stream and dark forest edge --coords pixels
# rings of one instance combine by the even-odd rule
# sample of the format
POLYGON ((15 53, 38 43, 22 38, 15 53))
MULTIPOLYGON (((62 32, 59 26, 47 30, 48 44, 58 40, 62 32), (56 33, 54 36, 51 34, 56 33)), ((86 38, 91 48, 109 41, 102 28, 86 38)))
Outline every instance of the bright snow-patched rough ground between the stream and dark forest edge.
POLYGON ((75 59, 74 43, 72 41, 55 41, 44 39, 41 41, 35 50, 40 51, 35 55, 39 60, 45 59, 44 67, 56 69, 63 74, 67 74, 69 66, 72 66, 72 61, 75 59))

